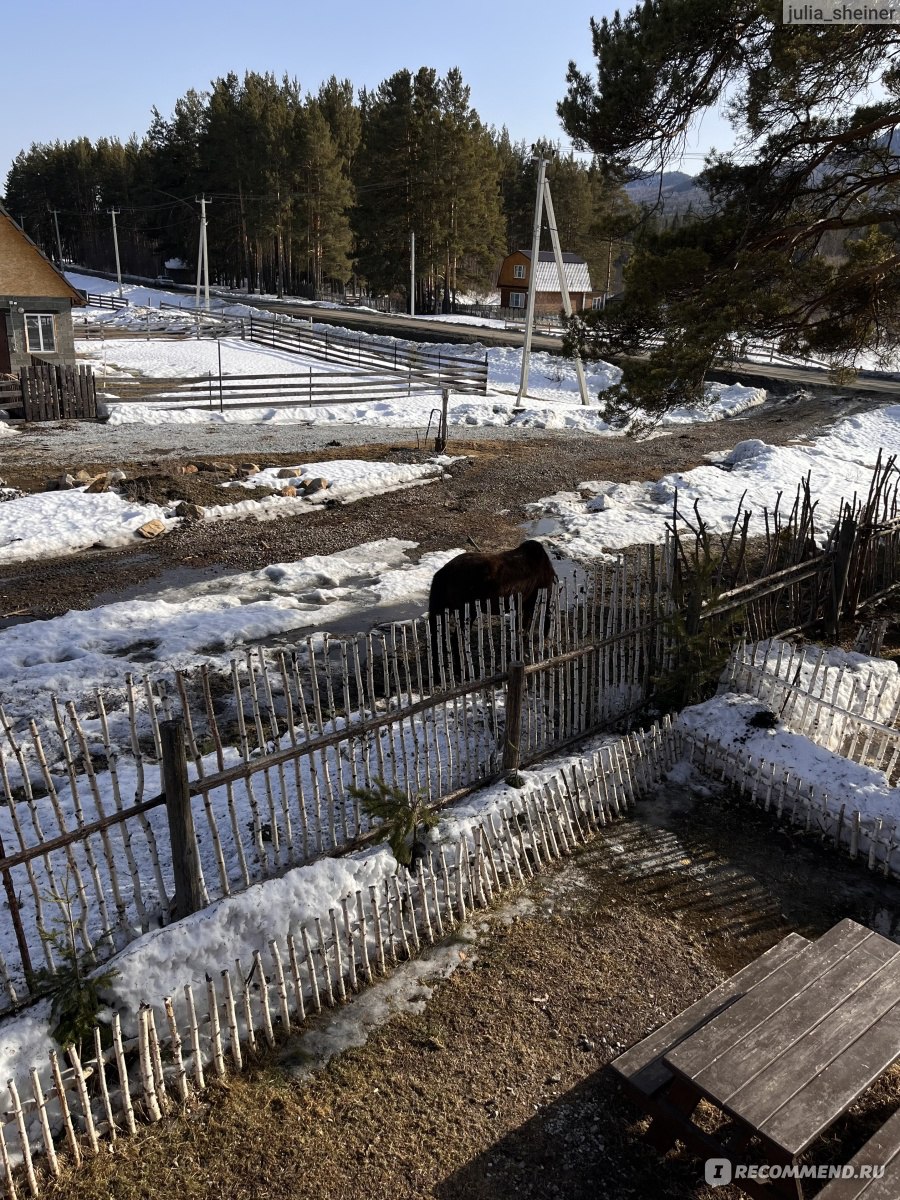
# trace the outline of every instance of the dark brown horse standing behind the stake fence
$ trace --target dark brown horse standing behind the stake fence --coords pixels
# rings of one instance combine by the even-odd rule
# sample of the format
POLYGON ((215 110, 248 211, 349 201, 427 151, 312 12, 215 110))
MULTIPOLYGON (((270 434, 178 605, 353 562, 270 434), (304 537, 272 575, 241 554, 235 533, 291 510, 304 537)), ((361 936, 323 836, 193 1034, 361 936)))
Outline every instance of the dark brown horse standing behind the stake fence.
MULTIPOLYGON (((475 601, 484 610, 499 611, 498 601, 506 596, 522 596, 524 628, 532 623, 538 596, 542 588, 551 590, 557 572, 539 541, 523 541, 515 550, 503 550, 497 554, 457 554, 436 571, 428 593, 428 624, 432 648, 438 658, 438 617, 455 612, 457 617, 474 616, 475 601)), ((550 598, 548 598, 550 600, 550 598)), ((545 632, 550 629, 550 602, 545 618, 545 632)))

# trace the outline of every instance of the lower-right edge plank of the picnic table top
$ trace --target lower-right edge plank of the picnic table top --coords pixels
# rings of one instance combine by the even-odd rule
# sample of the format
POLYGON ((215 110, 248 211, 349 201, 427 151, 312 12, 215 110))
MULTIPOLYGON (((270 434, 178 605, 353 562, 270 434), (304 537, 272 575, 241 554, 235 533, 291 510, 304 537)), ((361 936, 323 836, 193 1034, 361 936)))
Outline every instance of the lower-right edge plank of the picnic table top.
MULTIPOLYGON (((823 1066, 757 1128, 769 1140, 793 1153, 802 1153, 853 1100, 870 1087, 900 1056, 900 976, 893 984, 893 1003, 871 1025, 858 1028, 858 1037, 823 1066)), ((790 1063, 781 1080, 790 1078, 790 1063)), ((743 1108, 743 1104, 742 1104, 743 1108)), ((752 1111, 750 1108, 749 1111, 752 1111)), ((887 1141, 888 1133, 884 1134, 887 1141)), ((898 1135, 893 1135, 898 1142, 898 1135)), ((878 1159, 868 1158, 877 1163, 878 1159)))

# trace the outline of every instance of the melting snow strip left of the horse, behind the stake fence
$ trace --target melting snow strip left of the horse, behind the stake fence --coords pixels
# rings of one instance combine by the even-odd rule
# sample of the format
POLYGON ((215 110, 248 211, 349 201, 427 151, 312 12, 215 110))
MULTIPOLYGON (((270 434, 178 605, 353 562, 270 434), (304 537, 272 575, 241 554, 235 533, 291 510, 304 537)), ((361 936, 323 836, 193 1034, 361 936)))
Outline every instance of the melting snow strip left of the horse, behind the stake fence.
POLYGON ((34 716, 38 727, 50 719, 50 692, 78 702, 103 689, 114 712, 125 703, 128 674, 155 678, 204 662, 226 668, 235 648, 278 635, 421 612, 432 575, 460 551, 414 563, 415 548, 392 538, 365 542, 0 629, 0 702, 13 725, 34 716))

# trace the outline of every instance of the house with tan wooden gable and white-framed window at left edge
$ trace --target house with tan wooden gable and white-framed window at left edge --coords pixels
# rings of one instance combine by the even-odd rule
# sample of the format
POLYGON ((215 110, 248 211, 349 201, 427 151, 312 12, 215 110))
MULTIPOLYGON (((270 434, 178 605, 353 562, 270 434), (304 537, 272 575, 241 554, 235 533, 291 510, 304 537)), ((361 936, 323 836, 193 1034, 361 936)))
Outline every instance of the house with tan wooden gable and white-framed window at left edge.
POLYGON ((0 208, 0 376, 35 359, 73 366, 72 306, 86 302, 0 208))

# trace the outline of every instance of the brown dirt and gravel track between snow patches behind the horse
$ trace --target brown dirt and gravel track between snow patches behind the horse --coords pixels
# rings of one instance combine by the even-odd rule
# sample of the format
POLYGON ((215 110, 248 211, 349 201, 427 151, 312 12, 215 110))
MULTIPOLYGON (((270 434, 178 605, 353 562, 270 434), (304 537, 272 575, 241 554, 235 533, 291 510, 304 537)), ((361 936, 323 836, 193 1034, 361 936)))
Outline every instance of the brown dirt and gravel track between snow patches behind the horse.
MULTIPOLYGON (((707 451, 730 448, 744 438, 785 443, 853 412, 859 403, 851 397, 786 397, 739 419, 640 442, 512 428, 454 428, 448 452, 467 457, 440 484, 264 524, 256 520, 186 522, 155 541, 136 539, 133 547, 0 569, 0 619, 10 613, 47 617, 90 607, 98 595, 109 600, 116 592, 150 584, 173 568, 256 570, 377 538, 409 539, 419 542, 421 552, 470 541, 485 550, 504 548, 521 538, 529 500, 586 479, 658 479, 695 467, 707 451)), ((130 480, 124 486, 133 490, 134 498, 175 498, 200 505, 226 503, 228 490, 216 485, 229 476, 232 464, 247 460, 260 466, 340 457, 406 462, 428 454, 420 431, 364 426, 145 428, 60 422, 23 426, 23 431, 0 442, 0 475, 12 487, 40 491, 48 480, 66 473, 96 475, 121 469, 130 480), (227 469, 184 475, 186 463, 220 463, 227 469)))

